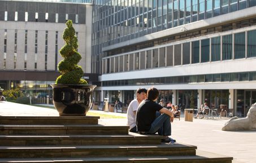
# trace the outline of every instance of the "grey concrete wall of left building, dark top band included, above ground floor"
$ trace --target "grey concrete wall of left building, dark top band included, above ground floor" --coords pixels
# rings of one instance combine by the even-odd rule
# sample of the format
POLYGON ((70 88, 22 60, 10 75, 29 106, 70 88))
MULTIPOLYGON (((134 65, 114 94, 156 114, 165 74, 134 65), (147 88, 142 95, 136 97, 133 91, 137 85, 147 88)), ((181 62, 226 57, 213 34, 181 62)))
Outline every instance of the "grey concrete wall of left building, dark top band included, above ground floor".
MULTIPOLYGON (((66 28, 66 14, 73 21, 73 27, 78 32, 79 49, 82 59, 79 65, 85 73, 91 72, 91 33, 92 33, 92 5, 51 2, 21 2, 0 1, 0 34, 4 36, 7 29, 7 58, 6 70, 24 70, 25 58, 25 30, 28 30, 27 38, 27 70, 34 70, 37 58, 37 70, 45 71, 45 33, 48 31, 47 41, 47 71, 57 70, 57 64, 63 58, 59 55, 60 48, 64 45, 62 33, 66 28), (5 11, 8 13, 5 20, 5 11), (18 12, 18 21, 14 21, 15 12, 18 12), (25 22, 25 12, 28 12, 28 21, 25 22), (35 13, 38 12, 38 19, 35 13), (49 14, 48 21, 45 14, 49 14), (58 23, 55 16, 58 14, 58 23), (76 14, 79 16, 78 24, 75 23, 76 14), (14 69, 14 35, 18 30, 18 51, 16 69, 14 69), (35 55, 35 31, 38 30, 37 55, 35 55), (58 55, 55 54, 55 35, 58 32, 58 55), (57 58, 57 60, 56 60, 57 58)), ((3 37, 1 37, 3 38, 3 37)), ((3 69, 3 45, 0 40, 0 71, 3 69)))

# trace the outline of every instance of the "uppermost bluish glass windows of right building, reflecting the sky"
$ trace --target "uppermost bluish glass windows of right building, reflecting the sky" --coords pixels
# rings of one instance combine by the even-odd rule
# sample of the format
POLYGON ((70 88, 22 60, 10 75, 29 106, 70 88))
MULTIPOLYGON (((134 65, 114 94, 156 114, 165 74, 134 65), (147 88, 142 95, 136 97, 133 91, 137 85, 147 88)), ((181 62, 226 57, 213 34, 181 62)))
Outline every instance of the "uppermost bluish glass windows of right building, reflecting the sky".
POLYGON ((94 6, 93 45, 105 46, 256 5, 256 1, 105 1, 94 6))

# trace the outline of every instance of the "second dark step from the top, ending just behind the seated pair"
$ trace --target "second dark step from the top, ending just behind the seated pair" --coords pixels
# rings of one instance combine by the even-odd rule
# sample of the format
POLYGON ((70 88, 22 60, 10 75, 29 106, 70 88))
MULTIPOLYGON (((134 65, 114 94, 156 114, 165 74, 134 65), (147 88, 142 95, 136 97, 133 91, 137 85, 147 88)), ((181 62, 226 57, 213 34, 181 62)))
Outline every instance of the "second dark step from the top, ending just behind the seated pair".
POLYGON ((0 125, 0 135, 128 135, 129 126, 0 125))

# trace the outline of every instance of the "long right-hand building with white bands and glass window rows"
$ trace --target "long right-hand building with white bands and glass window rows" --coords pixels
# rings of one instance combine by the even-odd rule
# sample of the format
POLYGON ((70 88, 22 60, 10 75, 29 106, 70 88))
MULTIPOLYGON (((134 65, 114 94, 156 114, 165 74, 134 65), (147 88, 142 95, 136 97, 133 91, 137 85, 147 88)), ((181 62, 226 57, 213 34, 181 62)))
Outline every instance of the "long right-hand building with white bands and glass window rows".
POLYGON ((94 1, 92 72, 98 100, 131 101, 138 87, 181 108, 256 102, 256 1, 94 1))

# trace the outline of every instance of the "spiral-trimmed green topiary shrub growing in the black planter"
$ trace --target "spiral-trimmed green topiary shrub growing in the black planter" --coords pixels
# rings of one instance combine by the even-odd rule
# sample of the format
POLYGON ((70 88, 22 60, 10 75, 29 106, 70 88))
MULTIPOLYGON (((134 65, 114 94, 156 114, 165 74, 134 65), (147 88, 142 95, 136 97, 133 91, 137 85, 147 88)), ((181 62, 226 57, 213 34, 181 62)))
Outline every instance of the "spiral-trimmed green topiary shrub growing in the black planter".
POLYGON ((72 20, 68 20, 67 27, 64 29, 62 38, 66 44, 60 49, 59 53, 64 58, 58 64, 58 71, 61 75, 57 78, 56 83, 61 84, 88 84, 83 77, 83 69, 77 65, 81 60, 81 55, 77 52, 77 37, 73 28, 72 20))

